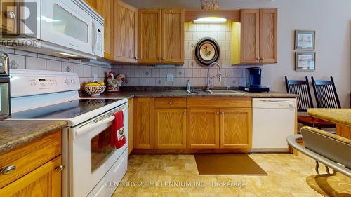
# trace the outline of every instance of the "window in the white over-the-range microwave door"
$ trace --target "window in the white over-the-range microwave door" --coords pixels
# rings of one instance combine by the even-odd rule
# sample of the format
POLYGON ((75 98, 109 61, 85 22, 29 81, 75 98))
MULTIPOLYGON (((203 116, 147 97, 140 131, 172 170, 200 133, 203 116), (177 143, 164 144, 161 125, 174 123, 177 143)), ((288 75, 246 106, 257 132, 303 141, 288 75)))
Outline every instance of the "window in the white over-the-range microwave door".
POLYGON ((58 4, 53 6, 53 28, 74 39, 88 42, 88 25, 58 4))

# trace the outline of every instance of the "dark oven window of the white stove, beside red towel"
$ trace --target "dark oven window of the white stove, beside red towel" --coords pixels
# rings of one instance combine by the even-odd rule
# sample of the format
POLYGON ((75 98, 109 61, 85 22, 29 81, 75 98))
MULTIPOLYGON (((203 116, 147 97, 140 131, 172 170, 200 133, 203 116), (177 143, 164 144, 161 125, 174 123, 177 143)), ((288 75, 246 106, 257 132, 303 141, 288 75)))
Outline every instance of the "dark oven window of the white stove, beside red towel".
POLYGON ((116 150, 110 146, 111 127, 91 139, 91 172, 97 170, 116 150))

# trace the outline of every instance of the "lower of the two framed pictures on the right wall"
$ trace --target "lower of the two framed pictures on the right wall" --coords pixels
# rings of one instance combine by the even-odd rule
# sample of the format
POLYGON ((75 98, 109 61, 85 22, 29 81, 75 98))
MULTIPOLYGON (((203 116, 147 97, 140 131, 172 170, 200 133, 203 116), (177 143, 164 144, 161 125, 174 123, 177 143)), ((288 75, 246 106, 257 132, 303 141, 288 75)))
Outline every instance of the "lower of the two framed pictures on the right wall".
POLYGON ((314 71, 316 69, 316 53, 296 52, 295 56, 296 71, 314 71))

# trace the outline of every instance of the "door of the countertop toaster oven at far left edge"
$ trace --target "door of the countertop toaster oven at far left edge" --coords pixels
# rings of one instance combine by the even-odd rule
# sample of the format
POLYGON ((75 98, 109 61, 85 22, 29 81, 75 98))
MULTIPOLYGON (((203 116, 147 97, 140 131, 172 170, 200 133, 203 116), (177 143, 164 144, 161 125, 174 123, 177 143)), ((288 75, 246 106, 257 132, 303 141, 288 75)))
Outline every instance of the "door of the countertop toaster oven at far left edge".
POLYGON ((0 78, 0 120, 10 118, 10 79, 0 78))

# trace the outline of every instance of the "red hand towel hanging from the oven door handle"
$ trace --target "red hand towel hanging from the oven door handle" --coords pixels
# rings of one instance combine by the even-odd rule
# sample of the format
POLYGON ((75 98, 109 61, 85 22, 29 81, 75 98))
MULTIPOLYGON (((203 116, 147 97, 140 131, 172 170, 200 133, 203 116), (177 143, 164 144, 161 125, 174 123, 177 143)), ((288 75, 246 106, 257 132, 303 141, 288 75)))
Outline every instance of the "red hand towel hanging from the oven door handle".
POLYGON ((124 135, 124 116, 123 111, 118 111, 114 114, 114 121, 111 124, 110 145, 116 146, 116 149, 123 147, 126 144, 126 136, 124 135))

